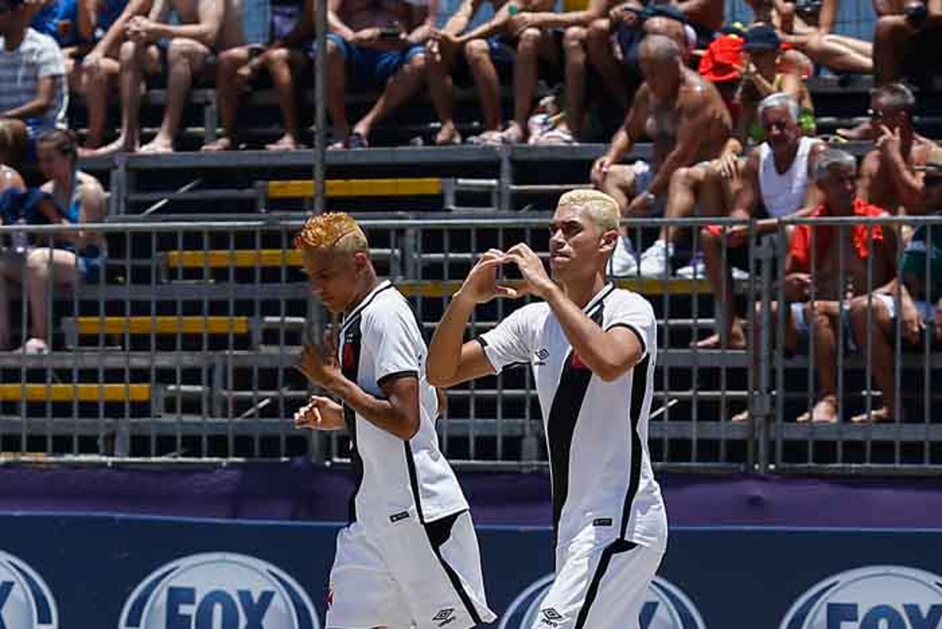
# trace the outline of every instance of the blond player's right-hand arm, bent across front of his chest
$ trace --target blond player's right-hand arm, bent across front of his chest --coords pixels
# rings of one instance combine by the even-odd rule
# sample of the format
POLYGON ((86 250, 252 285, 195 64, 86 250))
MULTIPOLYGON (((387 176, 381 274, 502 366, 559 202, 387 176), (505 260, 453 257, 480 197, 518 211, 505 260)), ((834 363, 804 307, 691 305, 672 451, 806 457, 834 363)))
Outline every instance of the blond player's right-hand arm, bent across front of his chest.
POLYGON ((527 245, 513 247, 507 252, 507 260, 515 263, 523 275, 521 292, 549 304, 573 350, 593 374, 611 381, 641 362, 644 347, 638 335, 623 327, 602 330, 549 278, 543 261, 527 245))

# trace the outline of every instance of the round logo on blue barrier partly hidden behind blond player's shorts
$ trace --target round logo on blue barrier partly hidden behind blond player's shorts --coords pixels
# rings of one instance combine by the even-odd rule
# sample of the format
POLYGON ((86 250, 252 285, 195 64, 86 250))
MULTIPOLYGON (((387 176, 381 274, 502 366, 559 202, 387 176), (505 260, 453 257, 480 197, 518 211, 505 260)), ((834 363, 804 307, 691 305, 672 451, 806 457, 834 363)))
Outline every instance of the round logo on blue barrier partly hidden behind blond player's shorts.
MULTIPOLYGON (((540 614, 555 613, 541 609, 544 596, 553 584, 554 575, 547 574, 513 599, 500 619, 498 629, 530 629, 540 614)), ((550 619, 552 621, 552 619, 550 619)), ((641 629, 706 629, 703 618, 684 592, 659 576, 648 586, 639 614, 641 629)))

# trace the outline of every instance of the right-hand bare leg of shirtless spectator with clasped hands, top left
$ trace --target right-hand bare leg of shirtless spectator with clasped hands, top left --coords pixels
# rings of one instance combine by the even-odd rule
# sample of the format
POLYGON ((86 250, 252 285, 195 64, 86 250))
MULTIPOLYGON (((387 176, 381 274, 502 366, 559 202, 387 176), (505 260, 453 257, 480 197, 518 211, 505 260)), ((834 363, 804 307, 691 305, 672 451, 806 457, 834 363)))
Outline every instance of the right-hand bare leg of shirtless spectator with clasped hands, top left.
POLYGON ((187 105, 193 77, 203 71, 210 50, 197 40, 171 40, 167 51, 167 107, 157 135, 140 148, 143 153, 171 153, 173 139, 180 128, 183 108, 187 105))

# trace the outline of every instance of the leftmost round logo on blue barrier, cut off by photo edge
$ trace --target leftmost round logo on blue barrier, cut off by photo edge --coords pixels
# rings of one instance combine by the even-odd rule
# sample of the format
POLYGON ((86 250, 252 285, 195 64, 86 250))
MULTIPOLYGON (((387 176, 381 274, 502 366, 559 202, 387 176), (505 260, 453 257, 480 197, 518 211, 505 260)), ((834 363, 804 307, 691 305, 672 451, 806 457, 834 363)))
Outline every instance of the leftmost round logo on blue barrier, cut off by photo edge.
POLYGON ((19 557, 0 551, 0 626, 57 629, 56 600, 42 577, 19 557))

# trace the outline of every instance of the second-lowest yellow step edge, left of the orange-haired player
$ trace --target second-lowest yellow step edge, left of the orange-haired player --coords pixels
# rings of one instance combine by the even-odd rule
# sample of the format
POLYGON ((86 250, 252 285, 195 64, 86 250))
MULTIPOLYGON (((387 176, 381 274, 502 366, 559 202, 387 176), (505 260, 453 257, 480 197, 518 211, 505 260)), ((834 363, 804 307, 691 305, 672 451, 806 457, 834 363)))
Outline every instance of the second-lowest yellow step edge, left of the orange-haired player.
POLYGON ((247 316, 79 316, 79 334, 234 334, 249 333, 247 316))

